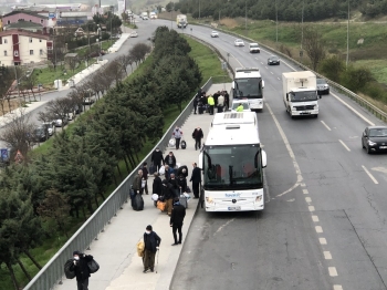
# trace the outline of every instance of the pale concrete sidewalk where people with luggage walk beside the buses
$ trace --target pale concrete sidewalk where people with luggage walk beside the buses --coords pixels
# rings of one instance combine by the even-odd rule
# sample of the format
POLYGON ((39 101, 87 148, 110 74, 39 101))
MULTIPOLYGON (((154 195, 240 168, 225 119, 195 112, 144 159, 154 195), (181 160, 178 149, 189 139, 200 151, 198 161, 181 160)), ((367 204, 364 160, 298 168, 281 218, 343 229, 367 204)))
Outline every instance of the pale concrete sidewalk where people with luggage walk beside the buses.
MULTIPOLYGON (((230 90, 230 84, 226 85, 230 90)), ((223 84, 215 84, 208 93, 223 90, 223 84)), ((199 151, 195 151, 195 142, 191 137, 194 130, 200 126, 206 134, 209 131, 213 116, 208 114, 191 114, 185 124, 180 124, 187 143, 186 149, 167 148, 164 156, 170 151, 174 152, 177 163, 187 165, 189 169, 188 184, 192 188, 189 178, 192 172, 191 164, 198 163, 199 151)), ((85 253, 94 256, 100 263, 98 272, 90 278, 90 289, 93 290, 167 290, 171 282, 176 265, 178 262, 182 245, 174 244, 169 217, 155 208, 151 196, 153 178, 148 180, 149 195, 144 195, 145 208, 143 211, 134 211, 130 200, 124 204, 123 209, 117 213, 117 217, 112 219, 98 239, 90 246, 91 250, 85 253), (143 260, 137 256, 136 245, 143 238, 145 228, 151 225, 154 231, 161 238, 160 250, 156 256, 155 272, 143 273, 143 260), (157 271, 157 273, 156 273, 157 271)), ((192 197, 192 194, 191 194, 192 197)), ((185 225, 182 227, 182 242, 187 237, 189 226, 194 219, 198 207, 198 199, 190 199, 188 203, 185 225)), ((200 208, 198 209, 200 210, 200 208)), ((74 249, 83 250, 83 249, 74 249)), ((69 257, 71 258, 71 257, 69 257)), ((63 278, 63 284, 55 286, 55 290, 73 290, 76 281, 63 278)))

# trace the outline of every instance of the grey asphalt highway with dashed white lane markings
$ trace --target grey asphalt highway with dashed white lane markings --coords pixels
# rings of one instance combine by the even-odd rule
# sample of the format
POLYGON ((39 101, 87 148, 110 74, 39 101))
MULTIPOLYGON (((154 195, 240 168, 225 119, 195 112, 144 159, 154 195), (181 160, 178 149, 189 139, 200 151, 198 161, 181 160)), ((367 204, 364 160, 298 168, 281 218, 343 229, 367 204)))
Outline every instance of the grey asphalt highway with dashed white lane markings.
MULTIPOLYGON (((144 29, 156 24, 170 21, 144 29)), ((170 289, 386 289, 387 155, 360 146, 364 128, 383 123, 334 90, 317 118, 292 120, 281 79, 291 63, 268 66, 268 52, 251 55, 210 32, 186 30, 229 52, 233 68, 258 66, 265 81, 258 118, 269 193, 261 213, 199 209, 170 289)))

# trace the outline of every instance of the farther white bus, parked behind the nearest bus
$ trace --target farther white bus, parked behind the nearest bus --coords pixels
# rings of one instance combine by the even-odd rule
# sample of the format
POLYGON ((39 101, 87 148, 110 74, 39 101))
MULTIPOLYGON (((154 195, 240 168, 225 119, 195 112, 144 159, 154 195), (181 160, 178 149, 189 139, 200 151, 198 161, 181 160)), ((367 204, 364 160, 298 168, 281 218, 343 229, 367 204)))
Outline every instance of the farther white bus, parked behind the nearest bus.
POLYGON ((237 68, 236 76, 231 85, 230 105, 234 99, 249 100, 250 108, 263 108, 263 87, 260 70, 257 68, 237 68))

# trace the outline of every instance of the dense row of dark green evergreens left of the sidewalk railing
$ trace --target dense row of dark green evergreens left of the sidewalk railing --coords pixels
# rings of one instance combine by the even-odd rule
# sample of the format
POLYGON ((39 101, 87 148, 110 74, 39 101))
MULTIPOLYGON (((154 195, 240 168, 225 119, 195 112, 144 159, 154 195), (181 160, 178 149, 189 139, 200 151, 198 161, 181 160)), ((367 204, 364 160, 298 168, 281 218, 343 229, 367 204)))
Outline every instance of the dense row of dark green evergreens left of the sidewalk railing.
POLYGON ((149 52, 149 46, 137 44, 128 55, 119 56, 70 93, 67 97, 74 99, 91 90, 98 96, 105 92, 71 133, 62 131, 48 154, 31 155, 1 174, 0 263, 7 265, 15 289, 12 266, 24 268, 21 255, 30 257, 29 250, 42 237, 59 231, 67 235, 72 219, 92 214, 107 187, 118 184, 115 170, 124 178, 118 162, 124 160, 127 172, 135 168, 144 145, 163 135, 163 112, 176 105, 181 108, 200 84, 199 68, 188 56, 190 48, 185 39, 164 27, 156 30, 153 41, 153 62, 143 75, 121 81, 129 60, 142 62, 149 52))

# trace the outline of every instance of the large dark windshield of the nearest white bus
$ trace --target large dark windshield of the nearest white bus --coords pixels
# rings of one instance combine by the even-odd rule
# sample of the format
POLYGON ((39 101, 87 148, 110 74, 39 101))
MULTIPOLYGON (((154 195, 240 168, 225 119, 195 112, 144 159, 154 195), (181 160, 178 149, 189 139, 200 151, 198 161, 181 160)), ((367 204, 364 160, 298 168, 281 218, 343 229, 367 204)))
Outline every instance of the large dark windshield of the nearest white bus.
POLYGON ((205 189, 262 188, 260 153, 259 144, 206 146, 203 151, 205 189))

